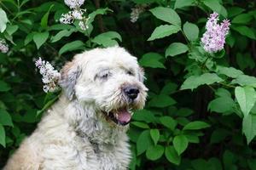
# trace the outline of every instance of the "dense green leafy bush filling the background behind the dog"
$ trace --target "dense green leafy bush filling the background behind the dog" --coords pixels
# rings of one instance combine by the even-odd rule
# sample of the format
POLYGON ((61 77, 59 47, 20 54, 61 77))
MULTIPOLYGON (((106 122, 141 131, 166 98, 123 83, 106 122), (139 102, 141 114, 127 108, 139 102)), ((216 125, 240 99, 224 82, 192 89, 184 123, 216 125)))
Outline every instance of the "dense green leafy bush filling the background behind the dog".
POLYGON ((44 94, 38 56, 56 68, 74 54, 118 44, 138 57, 149 88, 129 136, 131 169, 256 168, 256 3, 235 0, 85 1, 89 29, 60 24, 62 0, 0 1, 0 167, 56 99, 44 94), (137 22, 131 8, 143 8, 137 22), (200 39, 212 11, 231 22, 224 50, 200 39), (254 147, 255 148, 255 147, 254 147))

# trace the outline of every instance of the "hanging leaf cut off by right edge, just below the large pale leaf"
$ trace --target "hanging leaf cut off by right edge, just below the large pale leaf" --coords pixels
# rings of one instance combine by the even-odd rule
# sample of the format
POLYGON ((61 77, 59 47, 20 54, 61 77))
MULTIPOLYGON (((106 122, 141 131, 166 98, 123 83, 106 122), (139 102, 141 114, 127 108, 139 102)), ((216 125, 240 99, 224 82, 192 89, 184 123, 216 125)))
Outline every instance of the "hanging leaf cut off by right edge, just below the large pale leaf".
POLYGON ((247 138, 249 144, 256 135, 256 115, 249 114, 242 119, 242 133, 247 138))

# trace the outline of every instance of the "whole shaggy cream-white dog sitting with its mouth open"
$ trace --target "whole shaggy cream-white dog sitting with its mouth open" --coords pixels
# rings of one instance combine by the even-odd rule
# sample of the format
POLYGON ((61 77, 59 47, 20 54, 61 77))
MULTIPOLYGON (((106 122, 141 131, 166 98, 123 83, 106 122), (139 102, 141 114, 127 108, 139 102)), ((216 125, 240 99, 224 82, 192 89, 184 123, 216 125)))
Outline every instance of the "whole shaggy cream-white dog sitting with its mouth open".
POLYGON ((60 84, 65 93, 4 169, 127 169, 125 132, 147 95, 137 59, 124 48, 92 49, 63 67, 60 84))

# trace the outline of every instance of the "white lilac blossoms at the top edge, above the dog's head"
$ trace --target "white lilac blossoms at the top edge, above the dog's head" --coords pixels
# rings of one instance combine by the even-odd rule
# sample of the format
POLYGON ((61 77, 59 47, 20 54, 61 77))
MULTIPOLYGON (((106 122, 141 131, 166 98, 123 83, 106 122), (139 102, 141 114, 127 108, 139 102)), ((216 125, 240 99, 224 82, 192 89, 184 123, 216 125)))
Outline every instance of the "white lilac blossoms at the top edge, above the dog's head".
POLYGON ((64 0, 64 2, 71 8, 71 11, 67 14, 61 14, 60 22, 62 24, 73 24, 74 20, 79 20, 81 30, 87 30, 89 18, 83 16, 86 9, 80 8, 84 4, 84 0, 64 0))

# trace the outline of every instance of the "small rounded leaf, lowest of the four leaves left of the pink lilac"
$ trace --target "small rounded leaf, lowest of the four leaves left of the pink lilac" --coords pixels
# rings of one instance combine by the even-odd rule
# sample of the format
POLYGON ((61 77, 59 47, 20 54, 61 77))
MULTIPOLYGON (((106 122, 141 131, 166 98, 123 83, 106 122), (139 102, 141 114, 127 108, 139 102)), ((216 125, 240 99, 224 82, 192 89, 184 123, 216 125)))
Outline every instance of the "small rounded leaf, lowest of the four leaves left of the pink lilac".
POLYGON ((178 54, 186 53, 189 50, 188 46, 181 43, 181 42, 173 42, 167 49, 166 49, 166 57, 167 56, 175 56, 178 54))

